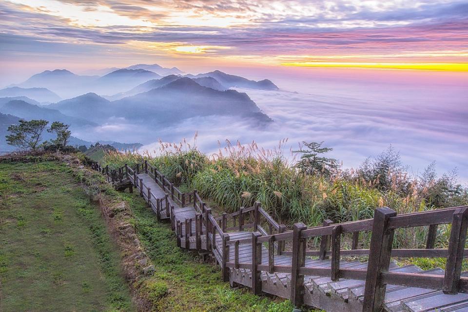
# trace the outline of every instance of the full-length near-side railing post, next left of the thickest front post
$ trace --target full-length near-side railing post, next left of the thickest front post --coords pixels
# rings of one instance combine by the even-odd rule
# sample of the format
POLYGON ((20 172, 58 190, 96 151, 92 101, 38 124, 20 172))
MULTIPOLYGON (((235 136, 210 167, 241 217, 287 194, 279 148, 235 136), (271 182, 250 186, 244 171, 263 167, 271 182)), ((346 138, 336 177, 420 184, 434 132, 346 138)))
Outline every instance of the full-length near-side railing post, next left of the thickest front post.
POLYGON ((306 228, 304 223, 296 223, 292 228, 291 301, 296 308, 304 303, 304 275, 299 274, 299 268, 306 263, 306 244, 301 238, 306 228))

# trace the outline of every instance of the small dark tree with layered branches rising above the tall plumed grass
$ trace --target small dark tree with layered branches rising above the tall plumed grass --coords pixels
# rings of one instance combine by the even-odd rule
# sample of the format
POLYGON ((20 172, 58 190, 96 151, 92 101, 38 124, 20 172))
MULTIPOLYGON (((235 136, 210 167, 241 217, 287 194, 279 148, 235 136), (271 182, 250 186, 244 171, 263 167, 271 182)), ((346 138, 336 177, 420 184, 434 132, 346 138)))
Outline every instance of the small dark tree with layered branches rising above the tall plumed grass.
POLYGON ((337 168, 337 160, 321 155, 331 152, 333 149, 322 147, 323 141, 320 143, 303 141, 302 144, 305 147, 301 145, 298 151, 293 151, 293 153, 302 154, 296 167, 307 175, 330 176, 332 170, 337 168))

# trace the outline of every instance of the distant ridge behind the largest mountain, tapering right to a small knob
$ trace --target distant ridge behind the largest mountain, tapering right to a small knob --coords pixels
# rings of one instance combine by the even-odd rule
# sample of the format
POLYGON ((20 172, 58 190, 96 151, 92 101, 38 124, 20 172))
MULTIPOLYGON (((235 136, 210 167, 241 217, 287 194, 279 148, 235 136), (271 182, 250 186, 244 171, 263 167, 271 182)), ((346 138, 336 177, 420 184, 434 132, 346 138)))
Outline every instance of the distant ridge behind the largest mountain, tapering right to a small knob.
POLYGON ((220 84, 222 84, 226 88, 237 87, 259 90, 278 90, 278 87, 271 80, 263 79, 260 81, 254 81, 240 76, 229 75, 219 70, 215 70, 214 72, 209 72, 205 74, 198 74, 195 76, 186 76, 190 78, 212 77, 215 78, 220 84))

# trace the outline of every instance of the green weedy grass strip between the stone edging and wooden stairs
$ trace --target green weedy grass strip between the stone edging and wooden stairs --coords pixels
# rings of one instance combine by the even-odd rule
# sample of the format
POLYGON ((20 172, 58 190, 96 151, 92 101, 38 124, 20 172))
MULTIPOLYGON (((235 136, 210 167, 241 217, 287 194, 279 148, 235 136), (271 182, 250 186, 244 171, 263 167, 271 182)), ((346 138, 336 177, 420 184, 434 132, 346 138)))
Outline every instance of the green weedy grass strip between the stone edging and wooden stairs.
POLYGON ((292 311, 290 301, 272 301, 252 295, 248 289, 230 289, 221 281, 219 269, 177 247, 170 225, 158 222, 138 195, 117 195, 130 204, 138 238, 155 263, 156 273, 141 291, 153 297, 157 311, 292 311))

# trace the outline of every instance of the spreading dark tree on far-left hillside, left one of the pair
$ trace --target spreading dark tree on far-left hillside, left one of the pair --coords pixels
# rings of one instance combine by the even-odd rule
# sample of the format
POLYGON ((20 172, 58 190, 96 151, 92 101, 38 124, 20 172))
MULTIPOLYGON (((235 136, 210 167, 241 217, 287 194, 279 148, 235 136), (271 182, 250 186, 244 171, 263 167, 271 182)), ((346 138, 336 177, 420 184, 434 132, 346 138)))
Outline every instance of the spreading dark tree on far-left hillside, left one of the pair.
POLYGON ((20 119, 19 124, 10 125, 8 132, 10 135, 5 136, 9 145, 17 146, 22 149, 36 150, 39 147, 42 131, 49 122, 46 120, 30 120, 20 119))

